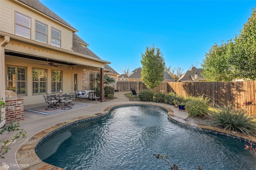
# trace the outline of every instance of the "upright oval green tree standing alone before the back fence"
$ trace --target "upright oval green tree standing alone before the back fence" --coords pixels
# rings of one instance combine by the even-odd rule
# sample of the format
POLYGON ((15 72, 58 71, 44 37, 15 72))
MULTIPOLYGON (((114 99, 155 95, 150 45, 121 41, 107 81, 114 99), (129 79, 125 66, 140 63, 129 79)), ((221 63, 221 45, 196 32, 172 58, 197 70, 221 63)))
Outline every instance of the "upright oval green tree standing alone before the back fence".
POLYGON ((164 80, 165 62, 160 49, 146 47, 145 53, 141 55, 142 64, 141 80, 148 88, 154 88, 164 80))

